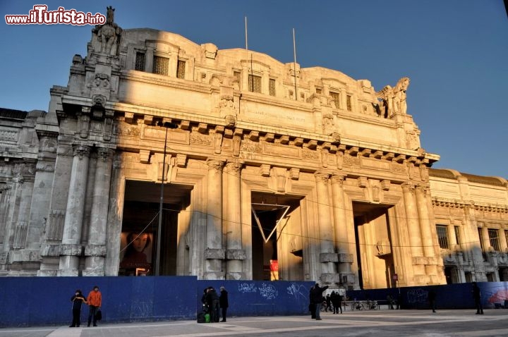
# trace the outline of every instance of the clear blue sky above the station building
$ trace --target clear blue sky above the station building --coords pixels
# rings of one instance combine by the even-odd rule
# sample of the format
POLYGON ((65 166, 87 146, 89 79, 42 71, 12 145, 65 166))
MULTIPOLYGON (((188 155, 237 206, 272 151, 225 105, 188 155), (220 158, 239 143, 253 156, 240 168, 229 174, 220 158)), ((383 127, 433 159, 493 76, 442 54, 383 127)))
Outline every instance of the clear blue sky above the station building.
POLYGON ((0 0, 0 106, 48 109, 49 88, 67 85, 92 26, 6 25, 35 4, 90 13, 116 8, 123 29, 150 27, 245 47, 302 67, 332 68, 375 90, 408 76, 408 114, 434 168, 508 178, 508 18, 502 0, 0 0))

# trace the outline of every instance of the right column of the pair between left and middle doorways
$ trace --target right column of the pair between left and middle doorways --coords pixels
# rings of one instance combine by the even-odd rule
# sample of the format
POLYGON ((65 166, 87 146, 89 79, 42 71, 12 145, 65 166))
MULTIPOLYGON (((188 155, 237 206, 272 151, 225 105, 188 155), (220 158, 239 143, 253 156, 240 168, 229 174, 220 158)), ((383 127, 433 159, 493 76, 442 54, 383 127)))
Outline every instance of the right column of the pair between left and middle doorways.
POLYGON ((241 164, 228 163, 224 168, 224 226, 226 231, 226 279, 242 279, 241 164))

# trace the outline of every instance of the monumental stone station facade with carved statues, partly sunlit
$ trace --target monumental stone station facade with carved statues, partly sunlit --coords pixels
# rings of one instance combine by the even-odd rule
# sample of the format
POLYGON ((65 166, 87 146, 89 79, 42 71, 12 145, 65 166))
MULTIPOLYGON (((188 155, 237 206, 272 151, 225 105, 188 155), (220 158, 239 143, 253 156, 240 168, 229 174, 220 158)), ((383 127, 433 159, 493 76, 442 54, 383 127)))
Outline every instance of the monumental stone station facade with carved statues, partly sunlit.
POLYGON ((507 262, 507 182, 430 169, 408 86, 111 15, 47 113, 1 111, 0 274, 150 275, 159 253, 161 275, 202 279, 387 288, 446 283, 454 266, 484 281, 507 262), (449 231, 444 252, 436 224, 464 244, 449 231), (485 262, 476 227, 504 231, 485 262))

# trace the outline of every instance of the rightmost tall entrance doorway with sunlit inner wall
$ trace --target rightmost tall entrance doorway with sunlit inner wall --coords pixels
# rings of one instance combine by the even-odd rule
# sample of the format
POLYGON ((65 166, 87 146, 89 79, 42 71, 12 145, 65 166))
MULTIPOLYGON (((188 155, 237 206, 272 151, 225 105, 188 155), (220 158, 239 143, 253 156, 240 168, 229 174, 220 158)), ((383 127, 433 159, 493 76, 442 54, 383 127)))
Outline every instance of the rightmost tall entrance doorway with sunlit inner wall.
POLYGON ((353 202, 358 282, 362 289, 397 286, 388 217, 390 207, 353 202))

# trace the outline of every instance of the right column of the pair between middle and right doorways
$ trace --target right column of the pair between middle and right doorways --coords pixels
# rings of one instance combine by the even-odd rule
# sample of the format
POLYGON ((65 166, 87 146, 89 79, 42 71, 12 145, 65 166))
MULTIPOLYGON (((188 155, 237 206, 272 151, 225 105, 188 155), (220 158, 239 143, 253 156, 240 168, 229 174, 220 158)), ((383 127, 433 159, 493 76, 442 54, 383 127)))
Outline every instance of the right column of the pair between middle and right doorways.
MULTIPOLYGON (((332 204, 335 249, 339 255, 339 273, 350 274, 352 253, 349 252, 346 207, 344 207, 344 176, 332 176, 332 204)), ((339 280, 341 282, 341 280, 339 280)))

